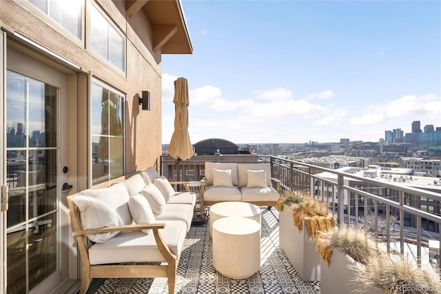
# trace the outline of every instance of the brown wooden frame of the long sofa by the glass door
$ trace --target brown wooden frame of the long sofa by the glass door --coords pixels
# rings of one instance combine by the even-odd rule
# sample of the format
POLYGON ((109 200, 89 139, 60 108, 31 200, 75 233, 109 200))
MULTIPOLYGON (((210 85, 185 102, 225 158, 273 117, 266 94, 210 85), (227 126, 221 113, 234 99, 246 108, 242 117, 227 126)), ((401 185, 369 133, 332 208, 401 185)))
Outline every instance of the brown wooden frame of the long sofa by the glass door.
MULTIPOLYGON (((112 181, 94 186, 92 189, 106 188, 107 186, 110 186, 116 182, 122 182, 128 177, 129 175, 112 179, 112 181)), ((170 184, 183 184, 185 189, 189 191, 187 187, 188 182, 170 182, 170 184)), ((165 228, 165 224, 131 224, 125 226, 108 226, 105 228, 83 230, 79 210, 72 201, 77 194, 78 193, 70 195, 67 198, 72 226, 72 235, 76 240, 76 246, 81 257, 82 276, 80 294, 87 293, 90 282, 92 282, 93 278, 121 277, 167 277, 168 293, 174 294, 178 259, 176 258, 176 255, 171 253, 170 248, 168 248, 167 244, 165 244, 163 238, 161 237, 159 230, 165 228), (88 244, 90 244, 90 242, 87 235, 114 231, 136 231, 145 229, 152 229, 158 249, 161 252, 161 255, 163 255, 167 264, 136 264, 135 262, 127 264, 90 264, 88 251, 88 244)))

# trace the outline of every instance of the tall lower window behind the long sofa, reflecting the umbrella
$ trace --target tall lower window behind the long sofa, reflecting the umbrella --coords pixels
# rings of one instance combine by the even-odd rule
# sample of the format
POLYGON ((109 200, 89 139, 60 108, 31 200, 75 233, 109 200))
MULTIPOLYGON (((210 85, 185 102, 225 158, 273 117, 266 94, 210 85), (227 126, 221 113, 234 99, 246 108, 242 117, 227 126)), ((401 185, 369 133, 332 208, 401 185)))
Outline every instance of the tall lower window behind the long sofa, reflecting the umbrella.
POLYGON ((92 184, 124 175, 124 100, 109 86, 92 83, 92 184))

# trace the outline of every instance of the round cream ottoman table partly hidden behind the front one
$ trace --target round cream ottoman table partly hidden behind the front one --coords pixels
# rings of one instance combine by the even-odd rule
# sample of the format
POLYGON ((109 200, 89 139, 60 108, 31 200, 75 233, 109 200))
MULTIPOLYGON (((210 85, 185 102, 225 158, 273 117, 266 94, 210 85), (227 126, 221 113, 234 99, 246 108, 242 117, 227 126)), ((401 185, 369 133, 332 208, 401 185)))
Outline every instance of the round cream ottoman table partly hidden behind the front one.
POLYGON ((259 206, 247 202, 228 201, 213 204, 209 208, 209 235, 213 236, 213 224, 222 217, 247 217, 261 224, 260 215, 259 206))

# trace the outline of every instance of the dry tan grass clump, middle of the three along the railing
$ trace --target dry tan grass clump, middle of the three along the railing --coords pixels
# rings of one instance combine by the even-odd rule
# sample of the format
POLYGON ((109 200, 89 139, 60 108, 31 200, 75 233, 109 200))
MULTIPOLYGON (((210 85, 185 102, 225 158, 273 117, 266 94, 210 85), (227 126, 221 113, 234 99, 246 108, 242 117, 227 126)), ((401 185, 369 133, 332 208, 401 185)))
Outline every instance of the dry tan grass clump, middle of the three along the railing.
POLYGON ((371 235, 362 228, 353 226, 342 226, 335 230, 321 232, 316 246, 318 253, 328 266, 334 249, 349 255, 361 264, 366 264, 369 259, 378 254, 384 254, 371 235))

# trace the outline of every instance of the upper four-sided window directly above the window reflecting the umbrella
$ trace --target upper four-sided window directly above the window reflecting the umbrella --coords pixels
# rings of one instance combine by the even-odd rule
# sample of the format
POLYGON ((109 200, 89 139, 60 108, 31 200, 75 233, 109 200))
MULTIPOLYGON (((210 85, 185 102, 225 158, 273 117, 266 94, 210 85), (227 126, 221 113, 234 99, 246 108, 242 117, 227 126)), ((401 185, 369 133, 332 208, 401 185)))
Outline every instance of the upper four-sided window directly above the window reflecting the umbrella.
POLYGON ((125 39, 103 14, 90 5, 90 46, 94 52, 125 72, 125 39))

